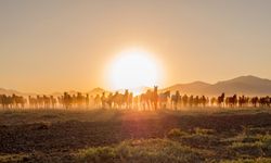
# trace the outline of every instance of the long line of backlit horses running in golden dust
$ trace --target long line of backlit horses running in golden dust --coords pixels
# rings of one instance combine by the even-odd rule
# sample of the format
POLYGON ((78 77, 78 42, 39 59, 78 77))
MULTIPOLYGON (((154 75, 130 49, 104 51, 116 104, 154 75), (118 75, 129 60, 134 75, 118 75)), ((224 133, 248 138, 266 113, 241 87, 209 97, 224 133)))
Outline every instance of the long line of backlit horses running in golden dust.
POLYGON ((101 95, 89 96, 78 92, 69 95, 64 92, 63 96, 7 96, 0 95, 0 108, 33 108, 33 109, 53 109, 53 108, 102 108, 102 109, 138 109, 138 110, 157 110, 192 108, 192 106, 219 106, 219 108, 242 108, 242 106, 270 106, 271 97, 248 97, 233 95, 225 97, 222 93, 219 97, 188 96, 179 91, 159 92, 158 87, 150 89, 139 96, 133 96, 127 89, 124 93, 103 92, 101 95))

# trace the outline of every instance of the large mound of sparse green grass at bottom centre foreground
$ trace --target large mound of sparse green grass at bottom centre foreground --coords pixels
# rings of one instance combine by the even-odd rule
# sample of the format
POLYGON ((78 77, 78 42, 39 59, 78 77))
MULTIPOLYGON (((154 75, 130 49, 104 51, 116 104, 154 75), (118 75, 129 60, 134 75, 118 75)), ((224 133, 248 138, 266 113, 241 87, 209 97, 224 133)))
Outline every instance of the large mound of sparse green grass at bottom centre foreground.
POLYGON ((127 140, 116 147, 81 150, 79 162, 203 162, 207 153, 168 139, 127 140))

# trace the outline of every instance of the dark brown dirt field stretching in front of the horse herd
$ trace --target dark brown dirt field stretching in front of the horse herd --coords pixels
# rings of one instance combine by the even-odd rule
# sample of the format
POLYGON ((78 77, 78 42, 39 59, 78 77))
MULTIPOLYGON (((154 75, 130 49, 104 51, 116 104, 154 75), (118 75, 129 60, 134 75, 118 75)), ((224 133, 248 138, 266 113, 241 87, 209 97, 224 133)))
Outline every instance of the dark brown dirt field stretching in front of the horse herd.
MULTIPOLYGON (((115 150, 114 155, 100 155, 100 159, 88 158, 87 152, 82 154, 86 149, 113 149, 129 140, 163 140, 176 142, 178 146, 180 143, 198 150, 199 162, 269 162, 270 113, 271 109, 192 109, 157 112, 1 110, 0 162, 124 162, 125 159, 129 162, 129 158, 118 156, 115 150), (260 150, 259 153, 255 153, 255 149, 243 149, 243 146, 247 146, 243 141, 247 137, 255 138, 251 143, 262 142, 262 148, 257 149, 260 150)), ((185 161, 188 160, 170 162, 185 161)), ((145 160, 139 159, 138 162, 145 160)))

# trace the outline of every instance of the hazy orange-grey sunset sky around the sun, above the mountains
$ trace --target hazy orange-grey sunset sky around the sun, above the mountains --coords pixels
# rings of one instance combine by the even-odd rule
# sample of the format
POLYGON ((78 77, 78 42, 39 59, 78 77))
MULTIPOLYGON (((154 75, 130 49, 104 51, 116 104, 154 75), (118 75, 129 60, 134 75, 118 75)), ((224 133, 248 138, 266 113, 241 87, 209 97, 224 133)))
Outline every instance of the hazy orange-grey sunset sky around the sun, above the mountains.
POLYGON ((124 49, 159 62, 162 87, 271 78, 270 0, 1 0, 0 88, 109 88, 124 49))

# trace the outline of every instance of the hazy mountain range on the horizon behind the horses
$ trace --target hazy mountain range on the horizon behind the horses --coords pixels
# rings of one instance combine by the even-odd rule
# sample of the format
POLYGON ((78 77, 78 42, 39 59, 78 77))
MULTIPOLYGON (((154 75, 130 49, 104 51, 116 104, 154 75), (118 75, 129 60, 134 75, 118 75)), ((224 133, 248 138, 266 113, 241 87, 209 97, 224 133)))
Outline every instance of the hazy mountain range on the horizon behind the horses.
MULTIPOLYGON (((147 89, 147 87, 145 88, 147 89)), ((145 90, 144 89, 144 90, 145 90)), ((143 89, 142 89, 143 90, 143 89)), ((163 88, 159 91, 170 90, 171 93, 175 93, 177 90, 181 95, 206 95, 206 96, 218 96, 224 92, 225 95, 247 95, 247 96, 271 96, 271 80, 264 79, 256 76, 240 76, 233 79, 218 82, 216 84, 208 84, 204 82, 194 82, 189 84, 176 84, 173 86, 163 88)), ((102 92, 108 92, 103 88, 94 88, 87 93, 96 95, 102 92)), ((72 90, 69 93, 77 93, 77 91, 72 90)), ((34 96, 35 93, 20 92, 17 90, 3 89, 0 88, 0 95, 20 95, 20 96, 34 96)), ((61 96, 63 92, 54 92, 53 96, 61 96)))

